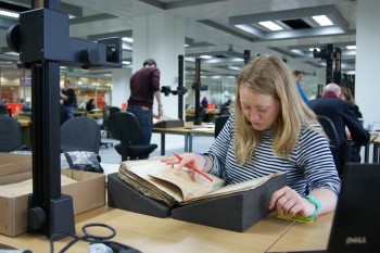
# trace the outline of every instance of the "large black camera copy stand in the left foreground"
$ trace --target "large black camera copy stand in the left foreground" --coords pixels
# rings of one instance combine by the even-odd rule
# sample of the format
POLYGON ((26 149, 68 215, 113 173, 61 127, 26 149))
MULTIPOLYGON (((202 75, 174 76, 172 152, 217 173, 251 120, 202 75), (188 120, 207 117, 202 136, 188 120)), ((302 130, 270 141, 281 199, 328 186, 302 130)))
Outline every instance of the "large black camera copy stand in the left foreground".
POLYGON ((68 15, 59 12, 60 1, 45 0, 43 4, 43 9, 20 14, 20 24, 9 29, 7 42, 20 53, 17 66, 31 72, 33 193, 28 232, 58 240, 65 237, 63 233, 75 233, 73 199, 61 194, 60 65, 121 67, 122 40, 69 38, 68 15))

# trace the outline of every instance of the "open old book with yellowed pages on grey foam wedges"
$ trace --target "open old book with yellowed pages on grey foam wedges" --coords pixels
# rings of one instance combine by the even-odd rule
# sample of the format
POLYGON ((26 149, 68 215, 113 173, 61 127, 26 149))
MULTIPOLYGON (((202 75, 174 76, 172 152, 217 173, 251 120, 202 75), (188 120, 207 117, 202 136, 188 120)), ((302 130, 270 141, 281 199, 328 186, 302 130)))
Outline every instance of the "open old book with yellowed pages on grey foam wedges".
POLYGON ((188 204, 203 199, 251 190, 278 174, 269 175, 236 185, 225 186, 225 181, 212 176, 213 181, 199 176, 191 179, 190 169, 172 168, 160 161, 161 157, 121 163, 118 177, 149 198, 169 206, 188 204))

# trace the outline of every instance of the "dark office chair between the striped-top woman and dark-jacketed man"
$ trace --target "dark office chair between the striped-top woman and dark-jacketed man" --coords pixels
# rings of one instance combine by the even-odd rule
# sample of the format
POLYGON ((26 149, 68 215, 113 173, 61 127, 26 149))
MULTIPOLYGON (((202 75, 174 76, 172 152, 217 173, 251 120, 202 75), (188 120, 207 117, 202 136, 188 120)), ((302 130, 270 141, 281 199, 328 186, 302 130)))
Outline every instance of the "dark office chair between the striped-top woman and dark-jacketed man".
POLYGON ((333 161, 335 163, 335 167, 337 167, 339 175, 341 175, 342 170, 343 170, 344 163, 350 162, 350 160, 351 160, 351 149, 353 146, 353 141, 346 142, 345 153, 344 153, 344 157, 342 160, 342 156, 340 154, 340 148, 343 143, 341 143, 341 141, 339 139, 339 135, 338 135, 338 130, 335 128, 335 125, 333 124, 333 122, 329 117, 324 116, 324 115, 317 115, 317 119, 318 119, 319 124, 322 126, 327 137, 329 138, 330 150, 331 150, 331 153, 333 156, 333 161))

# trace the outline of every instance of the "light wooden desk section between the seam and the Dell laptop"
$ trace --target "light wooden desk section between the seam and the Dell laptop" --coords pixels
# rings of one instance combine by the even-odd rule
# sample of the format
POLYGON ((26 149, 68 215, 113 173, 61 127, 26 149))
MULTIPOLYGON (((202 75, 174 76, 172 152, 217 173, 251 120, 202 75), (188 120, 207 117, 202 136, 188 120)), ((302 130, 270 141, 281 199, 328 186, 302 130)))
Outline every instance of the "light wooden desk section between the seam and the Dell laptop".
POLYGON ((332 219, 333 213, 329 213, 317 217, 313 224, 294 223, 268 252, 326 250, 332 219))

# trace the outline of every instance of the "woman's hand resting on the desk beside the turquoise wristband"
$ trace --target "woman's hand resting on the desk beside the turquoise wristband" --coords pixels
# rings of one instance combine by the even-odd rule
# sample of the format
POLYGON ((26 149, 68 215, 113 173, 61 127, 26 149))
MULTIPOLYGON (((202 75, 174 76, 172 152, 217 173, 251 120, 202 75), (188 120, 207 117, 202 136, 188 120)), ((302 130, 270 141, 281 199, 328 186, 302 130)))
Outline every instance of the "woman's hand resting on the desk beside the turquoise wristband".
POLYGON ((294 216, 297 214, 302 217, 307 217, 314 213, 316 207, 295 190, 290 187, 283 187, 271 195, 269 208, 276 208, 278 215, 294 216))

